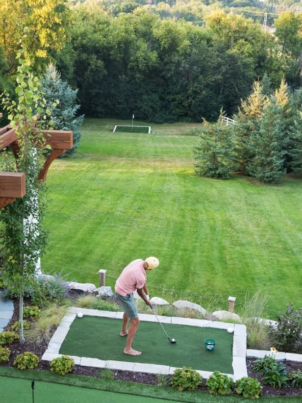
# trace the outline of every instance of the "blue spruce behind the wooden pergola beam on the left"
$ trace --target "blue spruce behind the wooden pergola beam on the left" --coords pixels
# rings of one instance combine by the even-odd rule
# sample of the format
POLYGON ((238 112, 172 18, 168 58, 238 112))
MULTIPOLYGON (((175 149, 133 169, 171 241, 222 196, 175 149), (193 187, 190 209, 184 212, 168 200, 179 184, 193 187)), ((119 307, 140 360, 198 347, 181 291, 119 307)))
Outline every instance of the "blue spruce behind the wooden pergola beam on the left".
POLYGON ((41 79, 42 91, 45 93, 44 98, 47 107, 51 111, 51 119, 53 126, 58 130, 73 130, 74 146, 71 150, 67 150, 61 156, 73 155, 79 146, 82 137, 79 126, 83 122, 84 115, 76 117, 76 112, 80 105, 76 104, 77 90, 73 90, 66 81, 61 79, 60 73, 56 67, 50 63, 46 73, 41 79), (60 103, 54 107, 52 104, 56 100, 60 103))

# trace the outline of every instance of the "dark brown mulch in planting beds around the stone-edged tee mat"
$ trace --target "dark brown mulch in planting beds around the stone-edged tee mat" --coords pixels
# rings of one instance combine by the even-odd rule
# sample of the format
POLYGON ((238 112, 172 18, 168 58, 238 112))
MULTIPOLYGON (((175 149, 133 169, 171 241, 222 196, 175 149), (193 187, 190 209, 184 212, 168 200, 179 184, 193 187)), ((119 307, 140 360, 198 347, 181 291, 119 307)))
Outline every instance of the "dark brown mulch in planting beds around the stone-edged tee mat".
MULTIPOLYGON (((70 292, 69 297, 71 299, 75 299, 78 297, 77 293, 70 292)), ((105 298, 104 298, 105 299, 105 298)), ((118 302, 115 297, 111 298, 106 298, 106 300, 110 300, 110 302, 118 302)), ((10 326, 19 320, 19 301, 18 300, 13 300, 14 303, 14 313, 11 321, 5 328, 5 330, 11 330, 10 326)), ((24 306, 31 305, 30 300, 25 299, 24 300, 24 306)), ((30 322, 30 319, 26 319, 30 322)), ((55 327, 51 329, 51 335, 55 331, 55 327)), ((49 361, 41 361, 42 355, 45 353, 46 349, 48 347, 48 343, 40 344, 40 345, 34 345, 30 343, 29 341, 25 340, 25 343, 23 346, 19 344, 19 341, 13 342, 10 346, 9 349, 11 350, 11 355, 9 362, 2 364, 5 367, 13 367, 13 362, 16 358, 17 355, 21 353, 25 353, 27 351, 31 351, 38 355, 40 362, 38 364, 38 367, 35 369, 36 371, 39 370, 50 370, 50 363, 49 361)), ((252 378, 257 378, 261 382, 261 375, 258 375, 253 369, 254 359, 247 359, 247 369, 248 369, 248 376, 252 378)), ((293 361, 286 361, 284 362, 286 365, 286 370, 287 371, 296 371, 300 369, 302 371, 302 363, 299 362, 293 362, 293 361)), ((102 374, 102 369, 100 368, 92 368, 92 367, 83 367, 80 365, 75 365, 75 370, 73 374, 76 375, 83 375, 87 377, 95 377, 95 378, 101 378, 102 374)), ((131 372, 131 371, 113 371, 112 372, 114 379, 116 380, 124 380, 128 382, 137 382, 137 383, 143 383, 143 384, 148 384, 148 385, 164 385, 168 386, 169 381, 170 381, 170 376, 157 376, 154 374, 147 374, 147 373, 141 373, 141 372, 131 372)), ((263 396, 302 396, 302 389, 294 388, 289 385, 283 385, 280 389, 279 388, 273 388, 269 385, 262 384, 263 386, 263 396)), ((199 387, 199 390, 207 390, 205 386, 205 380, 203 380, 202 384, 199 387)))

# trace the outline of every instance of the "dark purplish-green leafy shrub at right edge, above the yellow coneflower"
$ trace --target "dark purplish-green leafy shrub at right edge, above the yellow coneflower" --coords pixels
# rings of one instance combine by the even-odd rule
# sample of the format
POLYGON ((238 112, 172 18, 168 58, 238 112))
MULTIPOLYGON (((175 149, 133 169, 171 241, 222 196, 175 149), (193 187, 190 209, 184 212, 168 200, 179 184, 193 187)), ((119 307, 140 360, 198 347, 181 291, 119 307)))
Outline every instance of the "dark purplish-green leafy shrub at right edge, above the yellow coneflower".
POLYGON ((277 321, 277 327, 269 330, 277 349, 287 353, 299 352, 302 347, 302 308, 294 310, 293 304, 289 304, 284 315, 277 316, 277 321))

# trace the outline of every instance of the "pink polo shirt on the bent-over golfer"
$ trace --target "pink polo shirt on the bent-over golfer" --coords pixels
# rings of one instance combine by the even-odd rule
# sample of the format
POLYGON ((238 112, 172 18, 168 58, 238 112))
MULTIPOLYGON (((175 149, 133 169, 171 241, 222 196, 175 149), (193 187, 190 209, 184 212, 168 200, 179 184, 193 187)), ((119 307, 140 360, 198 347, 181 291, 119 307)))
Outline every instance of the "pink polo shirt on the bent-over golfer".
POLYGON ((147 278, 143 263, 143 259, 136 259, 125 267, 115 283, 115 291, 118 294, 126 297, 137 288, 143 288, 147 278))

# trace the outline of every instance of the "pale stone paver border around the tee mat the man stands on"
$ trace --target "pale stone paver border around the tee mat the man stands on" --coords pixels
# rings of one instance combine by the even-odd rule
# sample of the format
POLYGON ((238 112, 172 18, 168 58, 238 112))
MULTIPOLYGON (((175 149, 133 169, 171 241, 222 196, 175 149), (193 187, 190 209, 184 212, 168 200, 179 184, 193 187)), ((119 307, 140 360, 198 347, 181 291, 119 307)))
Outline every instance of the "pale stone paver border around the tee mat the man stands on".
MULTIPOLYGON (((97 309, 87 309, 87 308, 76 308, 71 307, 68 313, 63 317, 60 325, 57 327, 53 336, 50 339, 48 349, 42 356, 42 360, 51 361, 53 358, 60 357, 59 354, 61 345, 69 331, 69 328, 73 321, 76 319, 77 313, 81 312, 83 315, 98 316, 102 318, 112 318, 121 319, 123 312, 109 312, 100 311, 97 309)), ((233 323, 218 322, 218 321, 206 321, 201 319, 189 319, 189 318, 178 318, 170 316, 158 316, 158 319, 162 323, 184 325, 184 326, 197 326, 197 327, 213 327, 217 329, 228 329, 231 327, 233 329, 233 371, 234 374, 226 374, 233 380, 240 379, 242 377, 247 377, 247 366, 246 366, 246 355, 247 355, 247 328, 245 325, 237 325, 233 323)), ((154 315, 140 314, 141 321, 156 322, 154 315)), ((114 361, 114 360, 100 360, 97 358, 90 357, 78 357, 70 355, 75 359, 75 364, 82 365, 86 367, 96 367, 96 368, 109 368, 113 370, 124 370, 133 372, 147 372, 151 374, 173 374, 175 367, 169 367, 167 365, 156 365, 148 363, 136 363, 136 362, 126 362, 126 361, 114 361)), ((201 371, 197 369, 201 376, 205 379, 212 375, 212 372, 201 371)))

